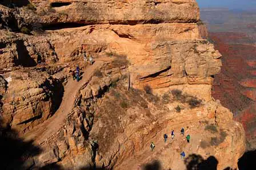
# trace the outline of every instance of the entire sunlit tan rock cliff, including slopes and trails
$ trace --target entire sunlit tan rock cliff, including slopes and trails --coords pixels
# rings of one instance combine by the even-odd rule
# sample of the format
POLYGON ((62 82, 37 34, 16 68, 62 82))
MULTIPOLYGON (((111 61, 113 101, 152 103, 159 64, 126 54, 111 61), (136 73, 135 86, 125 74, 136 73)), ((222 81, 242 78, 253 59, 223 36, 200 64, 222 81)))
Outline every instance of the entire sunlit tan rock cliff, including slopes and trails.
POLYGON ((163 169, 186 169, 181 151, 215 156, 218 169, 237 168, 245 133, 211 98, 221 54, 206 39, 196 1, 31 3, 15 10, 0 5, 0 99, 4 125, 42 148, 33 157, 35 168, 57 163, 73 169, 135 169, 159 160, 163 169), (10 27, 9 20, 17 26, 10 27), (13 32, 24 32, 25 26, 34 28, 31 35, 13 32), (94 56, 93 66, 81 63, 85 53, 94 56), (77 64, 83 69, 79 84, 69 73, 77 64), (99 71, 101 76, 93 76, 99 71), (142 93, 145 86, 153 94, 142 93), (177 89, 185 101, 170 95, 177 89), (191 96, 202 105, 190 108, 191 96), (205 130, 211 124, 217 132, 205 130), (179 135, 181 127, 191 134, 191 143, 179 135), (164 144, 163 134, 173 129, 177 137, 164 144))

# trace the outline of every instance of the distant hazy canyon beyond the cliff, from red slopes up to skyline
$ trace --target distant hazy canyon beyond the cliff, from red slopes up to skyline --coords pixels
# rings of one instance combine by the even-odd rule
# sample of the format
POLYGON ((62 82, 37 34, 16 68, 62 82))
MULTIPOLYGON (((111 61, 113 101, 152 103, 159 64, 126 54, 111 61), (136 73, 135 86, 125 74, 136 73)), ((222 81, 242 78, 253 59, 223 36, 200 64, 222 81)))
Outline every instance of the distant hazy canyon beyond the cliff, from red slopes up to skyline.
POLYGON ((246 131, 247 150, 256 148, 255 117, 255 18, 256 13, 202 10, 209 38, 221 54, 221 73, 215 76, 212 94, 234 113, 246 131), (243 23, 243 24, 241 24, 243 23))

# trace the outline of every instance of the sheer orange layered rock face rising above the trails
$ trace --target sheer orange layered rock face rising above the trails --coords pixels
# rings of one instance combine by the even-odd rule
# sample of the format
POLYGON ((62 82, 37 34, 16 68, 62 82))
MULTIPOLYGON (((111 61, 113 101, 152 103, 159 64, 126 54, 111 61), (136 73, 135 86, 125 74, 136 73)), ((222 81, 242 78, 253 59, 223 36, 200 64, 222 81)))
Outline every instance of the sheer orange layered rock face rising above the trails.
POLYGON ((221 55, 202 39, 195 1, 32 2, 36 11, 20 10, 26 23, 39 23, 45 30, 84 26, 29 36, 25 47, 31 48, 33 60, 41 57, 54 63, 77 60, 83 51, 115 52, 127 55, 135 88, 149 84, 163 90, 175 85, 210 100, 221 55))

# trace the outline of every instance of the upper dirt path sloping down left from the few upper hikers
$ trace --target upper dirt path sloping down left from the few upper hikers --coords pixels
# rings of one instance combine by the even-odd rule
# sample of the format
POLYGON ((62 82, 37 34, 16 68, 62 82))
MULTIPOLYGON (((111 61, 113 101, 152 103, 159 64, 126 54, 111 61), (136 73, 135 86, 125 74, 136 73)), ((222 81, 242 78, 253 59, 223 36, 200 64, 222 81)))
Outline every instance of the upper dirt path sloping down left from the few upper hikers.
POLYGON ((79 89, 90 80, 93 76, 94 71, 101 67, 103 61, 95 61, 95 63, 83 70, 82 80, 79 82, 74 81, 72 78, 67 82, 65 86, 65 92, 63 94, 61 105, 59 109, 55 112, 53 117, 47 119, 47 121, 41 123, 33 130, 27 132, 23 139, 25 141, 34 140, 34 143, 40 144, 47 137, 54 135, 63 123, 65 123, 65 118, 74 107, 75 96, 79 92, 79 89))

